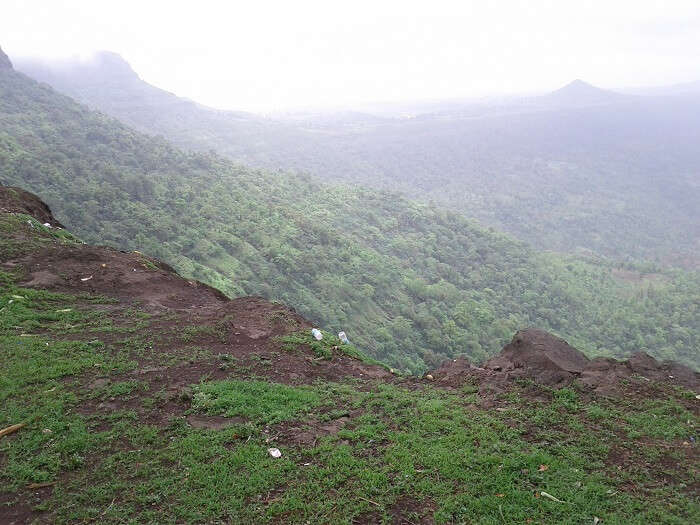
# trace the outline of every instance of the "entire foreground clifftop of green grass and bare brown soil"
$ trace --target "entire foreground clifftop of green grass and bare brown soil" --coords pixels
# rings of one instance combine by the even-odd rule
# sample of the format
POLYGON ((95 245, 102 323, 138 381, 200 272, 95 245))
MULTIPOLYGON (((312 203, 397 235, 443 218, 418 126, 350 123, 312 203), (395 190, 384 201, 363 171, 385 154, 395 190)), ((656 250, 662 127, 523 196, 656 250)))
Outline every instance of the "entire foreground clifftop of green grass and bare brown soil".
POLYGON ((23 201, 0 188, 0 523, 700 519, 683 367, 614 364, 613 396, 459 362, 401 377, 23 201))

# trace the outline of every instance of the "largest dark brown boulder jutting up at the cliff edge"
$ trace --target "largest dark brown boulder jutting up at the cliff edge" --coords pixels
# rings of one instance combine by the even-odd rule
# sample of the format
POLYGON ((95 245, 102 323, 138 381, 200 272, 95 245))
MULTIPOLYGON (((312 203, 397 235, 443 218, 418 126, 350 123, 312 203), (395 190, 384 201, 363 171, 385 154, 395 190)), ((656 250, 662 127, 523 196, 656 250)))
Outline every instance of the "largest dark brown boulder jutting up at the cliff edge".
POLYGON ((588 363, 585 355, 563 339, 530 328, 518 331, 500 354, 486 361, 484 368, 556 385, 579 376, 588 363))

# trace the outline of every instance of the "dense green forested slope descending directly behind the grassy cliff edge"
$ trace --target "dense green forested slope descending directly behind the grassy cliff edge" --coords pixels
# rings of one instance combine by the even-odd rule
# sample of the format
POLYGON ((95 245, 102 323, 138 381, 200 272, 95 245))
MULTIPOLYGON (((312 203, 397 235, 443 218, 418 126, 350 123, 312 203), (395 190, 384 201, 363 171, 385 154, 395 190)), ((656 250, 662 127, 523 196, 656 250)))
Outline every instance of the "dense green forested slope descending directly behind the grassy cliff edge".
POLYGON ((481 360, 524 326, 700 365, 698 272, 541 253, 437 205, 185 153, 11 69, 0 181, 87 241, 283 301, 403 370, 481 360))

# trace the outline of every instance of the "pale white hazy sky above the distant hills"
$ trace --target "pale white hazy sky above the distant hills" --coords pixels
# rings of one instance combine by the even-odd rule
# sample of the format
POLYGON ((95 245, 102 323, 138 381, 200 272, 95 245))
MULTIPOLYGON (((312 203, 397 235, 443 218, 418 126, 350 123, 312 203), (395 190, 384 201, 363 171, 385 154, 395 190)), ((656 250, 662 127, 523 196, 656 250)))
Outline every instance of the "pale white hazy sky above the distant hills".
POLYGON ((0 46, 268 111, 700 80, 700 1, 3 0, 0 46))

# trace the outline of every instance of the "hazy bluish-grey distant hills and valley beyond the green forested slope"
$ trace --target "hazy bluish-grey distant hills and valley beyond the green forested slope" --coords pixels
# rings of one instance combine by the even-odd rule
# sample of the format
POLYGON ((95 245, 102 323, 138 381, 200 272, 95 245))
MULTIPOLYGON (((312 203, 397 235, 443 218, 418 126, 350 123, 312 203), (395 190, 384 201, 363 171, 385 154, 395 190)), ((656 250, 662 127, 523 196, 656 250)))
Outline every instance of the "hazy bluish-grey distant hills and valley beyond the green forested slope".
POLYGON ((445 105, 412 118, 271 121, 178 99, 113 54, 20 69, 189 149, 400 190, 539 248, 700 263, 697 92, 628 96, 577 81, 547 96, 445 105))

